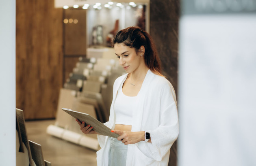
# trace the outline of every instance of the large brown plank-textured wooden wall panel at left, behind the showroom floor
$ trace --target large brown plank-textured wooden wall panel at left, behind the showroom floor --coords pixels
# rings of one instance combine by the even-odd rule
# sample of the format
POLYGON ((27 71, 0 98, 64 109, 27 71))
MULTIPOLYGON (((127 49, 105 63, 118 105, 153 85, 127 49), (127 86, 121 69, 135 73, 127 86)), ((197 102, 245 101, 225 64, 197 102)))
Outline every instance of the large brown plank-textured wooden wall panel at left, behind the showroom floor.
POLYGON ((16 107, 54 118, 63 71, 63 9, 54 0, 16 2, 16 107))

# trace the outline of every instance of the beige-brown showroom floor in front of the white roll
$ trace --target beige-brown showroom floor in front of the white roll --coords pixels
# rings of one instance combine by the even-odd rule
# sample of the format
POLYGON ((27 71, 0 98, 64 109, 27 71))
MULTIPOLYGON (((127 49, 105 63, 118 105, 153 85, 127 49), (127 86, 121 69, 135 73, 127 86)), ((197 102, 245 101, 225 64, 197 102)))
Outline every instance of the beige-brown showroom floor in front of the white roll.
POLYGON ((52 166, 96 166, 96 151, 46 133, 55 120, 26 121, 28 140, 42 146, 43 158, 52 166))

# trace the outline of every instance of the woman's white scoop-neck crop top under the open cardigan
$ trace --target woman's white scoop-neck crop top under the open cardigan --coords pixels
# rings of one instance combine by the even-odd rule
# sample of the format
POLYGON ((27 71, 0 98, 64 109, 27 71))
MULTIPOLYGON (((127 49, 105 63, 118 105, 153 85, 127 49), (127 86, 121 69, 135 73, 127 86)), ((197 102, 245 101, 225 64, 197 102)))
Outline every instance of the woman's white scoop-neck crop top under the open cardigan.
POLYGON ((132 125, 132 112, 135 109, 136 100, 137 96, 123 94, 122 86, 120 86, 114 104, 116 124, 132 125))

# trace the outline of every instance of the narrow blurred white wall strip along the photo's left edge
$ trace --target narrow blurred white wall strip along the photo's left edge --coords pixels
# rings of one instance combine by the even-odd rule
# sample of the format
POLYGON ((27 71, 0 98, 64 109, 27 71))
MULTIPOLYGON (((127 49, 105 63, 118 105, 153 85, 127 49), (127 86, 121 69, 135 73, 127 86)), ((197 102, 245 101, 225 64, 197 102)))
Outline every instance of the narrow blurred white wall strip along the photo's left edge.
POLYGON ((0 0, 0 166, 15 166, 15 0, 0 0))

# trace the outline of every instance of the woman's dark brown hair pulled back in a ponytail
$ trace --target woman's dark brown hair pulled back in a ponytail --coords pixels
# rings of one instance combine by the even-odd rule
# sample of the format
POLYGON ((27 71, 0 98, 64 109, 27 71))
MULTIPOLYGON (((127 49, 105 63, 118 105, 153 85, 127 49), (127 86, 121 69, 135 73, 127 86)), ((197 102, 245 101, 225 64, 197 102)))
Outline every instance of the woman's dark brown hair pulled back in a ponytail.
POLYGON ((141 46, 145 47, 144 61, 146 66, 155 74, 163 76, 161 70, 161 61, 157 53, 156 45, 148 32, 139 27, 128 27, 120 30, 115 35, 112 46, 116 43, 123 43, 125 46, 135 48, 139 51, 141 46))

